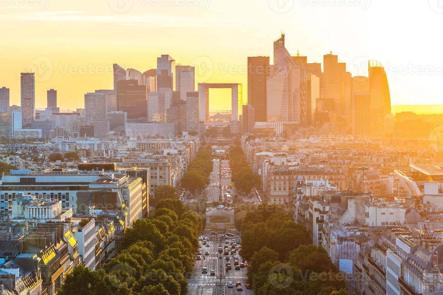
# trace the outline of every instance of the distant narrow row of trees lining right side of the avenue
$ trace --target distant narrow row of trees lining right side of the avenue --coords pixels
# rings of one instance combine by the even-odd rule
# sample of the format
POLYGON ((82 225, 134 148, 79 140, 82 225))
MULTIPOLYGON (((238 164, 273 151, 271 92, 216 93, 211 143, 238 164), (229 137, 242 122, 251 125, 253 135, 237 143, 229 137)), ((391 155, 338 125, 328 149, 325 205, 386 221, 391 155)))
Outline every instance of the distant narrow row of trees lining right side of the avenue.
POLYGON ((254 187, 260 187, 260 176, 253 173, 239 145, 229 148, 229 156, 235 188, 244 194, 249 194, 254 187))

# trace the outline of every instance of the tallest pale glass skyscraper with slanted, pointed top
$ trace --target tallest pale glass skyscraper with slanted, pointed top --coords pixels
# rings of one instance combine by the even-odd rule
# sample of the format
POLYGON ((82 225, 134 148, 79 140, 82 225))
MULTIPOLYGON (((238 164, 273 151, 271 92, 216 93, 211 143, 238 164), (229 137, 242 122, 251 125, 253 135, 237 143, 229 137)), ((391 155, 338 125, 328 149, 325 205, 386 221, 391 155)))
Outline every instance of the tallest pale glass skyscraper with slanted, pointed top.
POLYGON ((306 71, 284 48, 284 34, 274 41, 273 73, 266 80, 267 121, 306 125, 306 71))

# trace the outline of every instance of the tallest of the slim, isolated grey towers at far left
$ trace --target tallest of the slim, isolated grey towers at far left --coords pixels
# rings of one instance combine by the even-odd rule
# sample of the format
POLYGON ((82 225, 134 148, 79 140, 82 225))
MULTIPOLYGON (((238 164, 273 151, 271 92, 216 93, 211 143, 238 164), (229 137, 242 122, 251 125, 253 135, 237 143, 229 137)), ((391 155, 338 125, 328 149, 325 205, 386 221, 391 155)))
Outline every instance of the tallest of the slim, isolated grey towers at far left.
POLYGON ((35 113, 35 75, 20 73, 20 103, 23 124, 31 123, 35 113))

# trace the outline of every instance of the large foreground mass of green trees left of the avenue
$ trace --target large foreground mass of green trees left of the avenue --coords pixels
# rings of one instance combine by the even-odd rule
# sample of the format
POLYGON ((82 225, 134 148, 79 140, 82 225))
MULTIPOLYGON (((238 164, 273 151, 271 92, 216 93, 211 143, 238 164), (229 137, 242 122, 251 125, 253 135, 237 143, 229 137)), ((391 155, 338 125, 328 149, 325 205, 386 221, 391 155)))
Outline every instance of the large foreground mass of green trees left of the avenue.
POLYGON ((163 199, 152 216, 128 228, 104 269, 76 267, 58 294, 184 295, 202 230, 200 215, 179 200, 163 199))

